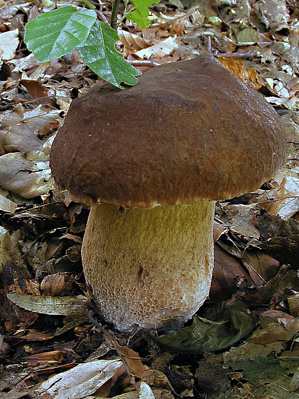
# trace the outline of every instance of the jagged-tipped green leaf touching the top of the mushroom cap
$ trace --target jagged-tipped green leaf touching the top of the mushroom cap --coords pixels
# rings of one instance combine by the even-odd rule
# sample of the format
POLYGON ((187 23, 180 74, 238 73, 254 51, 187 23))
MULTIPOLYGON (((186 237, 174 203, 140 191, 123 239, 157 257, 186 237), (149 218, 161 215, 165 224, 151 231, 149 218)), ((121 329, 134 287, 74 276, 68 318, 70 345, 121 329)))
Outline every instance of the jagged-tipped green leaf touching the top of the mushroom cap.
POLYGON ((119 35, 108 23, 96 21, 86 41, 77 49, 83 61, 104 80, 123 89, 121 82, 128 85, 137 83, 136 75, 141 75, 129 64, 121 53, 116 51, 115 43, 119 35))

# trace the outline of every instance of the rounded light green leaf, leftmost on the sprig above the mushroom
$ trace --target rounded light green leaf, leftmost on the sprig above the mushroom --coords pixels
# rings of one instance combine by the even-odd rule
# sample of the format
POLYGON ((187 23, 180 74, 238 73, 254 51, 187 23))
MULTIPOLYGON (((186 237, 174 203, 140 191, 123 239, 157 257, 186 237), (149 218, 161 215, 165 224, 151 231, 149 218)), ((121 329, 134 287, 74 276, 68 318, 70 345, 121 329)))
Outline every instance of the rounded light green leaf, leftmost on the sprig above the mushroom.
POLYGON ((40 62, 62 57, 83 43, 97 14, 68 5, 45 12, 26 24, 24 41, 40 62))

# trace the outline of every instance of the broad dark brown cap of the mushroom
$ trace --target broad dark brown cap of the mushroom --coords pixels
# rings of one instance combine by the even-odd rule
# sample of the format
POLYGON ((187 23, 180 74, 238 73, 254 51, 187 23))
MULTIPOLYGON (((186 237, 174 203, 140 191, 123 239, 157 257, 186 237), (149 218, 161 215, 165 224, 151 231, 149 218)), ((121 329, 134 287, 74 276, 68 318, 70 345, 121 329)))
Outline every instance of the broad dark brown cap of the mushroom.
POLYGON ((263 96, 204 54, 74 100, 50 165, 74 200, 151 208, 255 191, 282 165, 285 143, 263 96))

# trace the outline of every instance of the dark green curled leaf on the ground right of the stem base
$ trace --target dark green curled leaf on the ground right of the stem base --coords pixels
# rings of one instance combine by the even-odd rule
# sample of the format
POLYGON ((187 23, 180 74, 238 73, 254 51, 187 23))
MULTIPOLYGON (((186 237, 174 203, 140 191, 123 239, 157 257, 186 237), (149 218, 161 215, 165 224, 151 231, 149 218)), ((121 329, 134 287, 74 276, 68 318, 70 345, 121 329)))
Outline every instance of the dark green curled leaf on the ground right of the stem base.
POLYGON ((162 335, 158 341, 180 352, 197 354, 222 351, 248 336, 255 327, 252 316, 242 302, 231 305, 229 313, 230 321, 211 321, 195 315, 190 327, 162 335))

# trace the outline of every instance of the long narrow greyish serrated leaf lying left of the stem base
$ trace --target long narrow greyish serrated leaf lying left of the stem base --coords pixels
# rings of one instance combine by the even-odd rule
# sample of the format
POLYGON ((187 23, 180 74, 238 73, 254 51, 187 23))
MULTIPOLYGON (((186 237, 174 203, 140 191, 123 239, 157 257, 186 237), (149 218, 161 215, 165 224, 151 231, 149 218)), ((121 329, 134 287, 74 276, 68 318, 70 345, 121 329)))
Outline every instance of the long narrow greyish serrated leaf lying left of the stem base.
POLYGON ((17 306, 29 310, 31 312, 44 313, 47 315, 63 315, 67 316, 75 311, 86 307, 89 302, 83 296, 70 297, 49 297, 36 295, 23 295, 16 293, 8 293, 7 298, 17 306))

